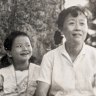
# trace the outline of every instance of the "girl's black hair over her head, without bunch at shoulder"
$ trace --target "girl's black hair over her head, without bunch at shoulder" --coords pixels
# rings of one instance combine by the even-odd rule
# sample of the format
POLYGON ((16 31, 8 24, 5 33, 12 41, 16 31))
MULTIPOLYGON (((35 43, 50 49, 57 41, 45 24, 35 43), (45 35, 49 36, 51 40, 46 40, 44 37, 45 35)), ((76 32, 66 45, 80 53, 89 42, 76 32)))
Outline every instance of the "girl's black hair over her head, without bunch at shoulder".
POLYGON ((4 41, 4 49, 7 51, 11 51, 12 49, 12 45, 14 40, 16 39, 16 37, 18 36, 27 36, 29 38, 29 36, 25 33, 25 32, 21 32, 21 31, 13 31, 11 32, 5 39, 4 41))

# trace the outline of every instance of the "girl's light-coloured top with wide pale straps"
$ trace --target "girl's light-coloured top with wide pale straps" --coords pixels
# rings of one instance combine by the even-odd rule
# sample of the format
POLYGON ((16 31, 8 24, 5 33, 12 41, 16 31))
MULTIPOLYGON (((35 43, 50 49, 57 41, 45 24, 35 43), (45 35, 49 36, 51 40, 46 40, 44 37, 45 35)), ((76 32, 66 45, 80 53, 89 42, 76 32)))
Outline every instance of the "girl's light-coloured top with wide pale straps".
POLYGON ((33 96, 39 75, 39 66, 30 63, 29 70, 14 70, 13 65, 0 69, 4 77, 4 96, 33 96))

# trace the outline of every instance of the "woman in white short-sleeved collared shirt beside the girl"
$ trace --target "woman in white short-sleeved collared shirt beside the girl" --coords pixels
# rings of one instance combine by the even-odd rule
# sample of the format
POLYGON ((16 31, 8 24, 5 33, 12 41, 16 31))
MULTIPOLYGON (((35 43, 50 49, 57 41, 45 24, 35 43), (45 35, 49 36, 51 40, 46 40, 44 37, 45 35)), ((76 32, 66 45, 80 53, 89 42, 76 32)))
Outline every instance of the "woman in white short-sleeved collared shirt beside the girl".
POLYGON ((36 96, 94 96, 96 49, 84 43, 89 11, 80 6, 64 9, 57 24, 64 45, 44 55, 36 96))

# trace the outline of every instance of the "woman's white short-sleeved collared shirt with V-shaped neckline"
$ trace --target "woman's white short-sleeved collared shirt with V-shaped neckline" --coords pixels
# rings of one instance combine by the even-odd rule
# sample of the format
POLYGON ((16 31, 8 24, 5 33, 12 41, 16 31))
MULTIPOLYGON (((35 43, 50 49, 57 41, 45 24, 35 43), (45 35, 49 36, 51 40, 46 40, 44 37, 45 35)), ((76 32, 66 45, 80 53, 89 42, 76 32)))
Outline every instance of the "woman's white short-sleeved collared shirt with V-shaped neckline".
POLYGON ((72 62, 65 45, 44 55, 39 81, 50 84, 49 96, 90 96, 96 74, 96 49, 84 44, 72 62), (60 95, 61 96, 61 95, 60 95))

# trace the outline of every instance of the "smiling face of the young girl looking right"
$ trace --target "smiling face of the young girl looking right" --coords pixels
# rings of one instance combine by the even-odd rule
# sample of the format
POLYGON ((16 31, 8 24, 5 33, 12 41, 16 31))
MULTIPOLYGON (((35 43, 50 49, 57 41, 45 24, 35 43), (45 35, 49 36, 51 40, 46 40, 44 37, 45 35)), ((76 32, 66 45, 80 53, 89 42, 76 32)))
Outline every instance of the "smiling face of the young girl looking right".
POLYGON ((29 38, 27 36, 16 37, 10 53, 15 61, 29 61, 32 56, 32 46, 29 38))

